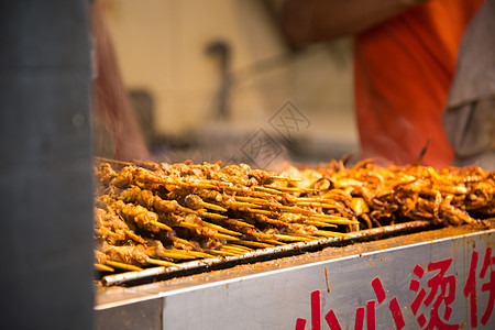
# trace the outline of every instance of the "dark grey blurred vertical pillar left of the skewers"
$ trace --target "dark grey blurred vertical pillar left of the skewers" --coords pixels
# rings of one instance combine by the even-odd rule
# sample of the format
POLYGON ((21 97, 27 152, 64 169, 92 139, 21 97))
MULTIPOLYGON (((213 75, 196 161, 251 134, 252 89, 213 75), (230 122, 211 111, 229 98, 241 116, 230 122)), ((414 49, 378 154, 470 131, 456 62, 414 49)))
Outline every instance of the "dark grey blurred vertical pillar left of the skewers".
POLYGON ((0 1, 0 327, 92 326, 84 0, 0 1))

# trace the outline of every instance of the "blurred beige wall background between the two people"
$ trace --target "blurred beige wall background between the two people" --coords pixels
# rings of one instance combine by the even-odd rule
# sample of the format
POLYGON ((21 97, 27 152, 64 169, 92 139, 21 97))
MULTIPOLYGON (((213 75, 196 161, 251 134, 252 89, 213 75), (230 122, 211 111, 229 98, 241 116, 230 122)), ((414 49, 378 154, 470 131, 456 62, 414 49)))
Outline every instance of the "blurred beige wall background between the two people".
POLYGON ((295 50, 274 0, 100 1, 155 161, 276 168, 359 152, 350 38, 295 50))

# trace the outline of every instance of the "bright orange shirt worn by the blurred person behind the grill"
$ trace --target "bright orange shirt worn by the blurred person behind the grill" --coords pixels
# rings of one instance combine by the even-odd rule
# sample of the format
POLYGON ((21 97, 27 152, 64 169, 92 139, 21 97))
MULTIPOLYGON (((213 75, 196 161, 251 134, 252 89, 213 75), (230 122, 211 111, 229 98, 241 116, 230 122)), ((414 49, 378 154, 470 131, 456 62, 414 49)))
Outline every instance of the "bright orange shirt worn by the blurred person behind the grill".
POLYGON ((484 0, 433 0, 356 36, 354 85, 363 158, 448 166, 442 112, 464 30, 484 0))

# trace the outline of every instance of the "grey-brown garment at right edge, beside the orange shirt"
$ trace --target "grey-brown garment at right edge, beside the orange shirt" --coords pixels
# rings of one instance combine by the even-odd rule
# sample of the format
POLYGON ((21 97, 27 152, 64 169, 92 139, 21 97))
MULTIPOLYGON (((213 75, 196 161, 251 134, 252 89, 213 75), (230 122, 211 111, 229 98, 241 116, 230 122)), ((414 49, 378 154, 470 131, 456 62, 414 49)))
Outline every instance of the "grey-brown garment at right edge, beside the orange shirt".
POLYGON ((443 114, 455 166, 495 170, 495 0, 468 28, 443 114))

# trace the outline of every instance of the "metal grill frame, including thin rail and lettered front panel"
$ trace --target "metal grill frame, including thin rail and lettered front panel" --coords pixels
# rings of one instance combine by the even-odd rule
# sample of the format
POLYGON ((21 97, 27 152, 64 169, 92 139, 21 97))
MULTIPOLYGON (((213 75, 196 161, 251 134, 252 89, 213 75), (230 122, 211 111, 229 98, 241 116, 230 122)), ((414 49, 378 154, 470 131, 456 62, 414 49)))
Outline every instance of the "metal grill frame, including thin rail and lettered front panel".
MULTIPOLYGON (((426 270, 429 263, 441 260, 452 261, 447 275, 457 279, 457 299, 451 306, 454 314, 450 321, 466 323, 470 321, 466 312, 470 301, 463 295, 463 287, 469 276, 470 257, 475 251, 482 260, 493 246, 494 233, 493 226, 439 229, 426 221, 415 221, 363 231, 352 239, 288 244, 292 246, 276 249, 282 250, 277 251, 279 254, 267 251, 272 249, 257 251, 263 256, 273 256, 265 261, 257 261, 258 255, 245 260, 228 257, 237 265, 250 261, 229 268, 216 270, 215 265, 189 263, 188 271, 199 274, 169 270, 168 279, 155 283, 143 284, 139 279, 142 280, 142 276, 161 279, 163 273, 157 268, 113 275, 111 284, 114 286, 97 290, 95 328, 231 329, 235 322, 237 329, 294 329, 299 319, 311 327, 316 324, 312 319, 315 306, 311 305, 316 295, 323 329, 324 314, 329 310, 336 311, 342 326, 351 324, 359 301, 376 299, 371 282, 380 278, 389 297, 384 306, 376 302, 377 329, 382 326, 393 328, 386 307, 392 298, 399 301, 405 329, 416 329, 416 316, 408 307, 415 298, 415 292, 409 289, 409 280, 415 276, 414 265, 426 270), (286 254, 285 250, 297 253, 286 254), (182 277, 175 277, 179 275, 182 277), (119 276, 125 278, 117 282, 119 276), (132 280, 140 285, 125 287, 132 280)), ((433 274, 430 273, 430 277, 433 274)), ((427 279, 425 276, 425 287, 427 279)), ((484 309, 488 295, 481 292, 483 280, 480 278, 479 282, 477 304, 484 309)), ((479 324, 479 329, 492 329, 494 324, 495 316, 492 316, 488 323, 479 324)))

